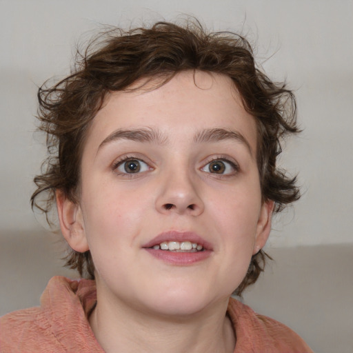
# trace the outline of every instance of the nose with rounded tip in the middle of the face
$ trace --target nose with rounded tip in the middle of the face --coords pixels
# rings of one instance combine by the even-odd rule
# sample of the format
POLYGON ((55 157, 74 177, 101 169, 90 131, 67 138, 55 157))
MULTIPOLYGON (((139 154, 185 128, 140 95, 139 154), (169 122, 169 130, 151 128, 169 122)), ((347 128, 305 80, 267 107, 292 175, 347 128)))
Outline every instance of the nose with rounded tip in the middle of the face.
POLYGON ((199 216, 204 204, 197 181, 192 181, 188 172, 170 171, 159 184, 156 208, 163 214, 188 214, 199 216))

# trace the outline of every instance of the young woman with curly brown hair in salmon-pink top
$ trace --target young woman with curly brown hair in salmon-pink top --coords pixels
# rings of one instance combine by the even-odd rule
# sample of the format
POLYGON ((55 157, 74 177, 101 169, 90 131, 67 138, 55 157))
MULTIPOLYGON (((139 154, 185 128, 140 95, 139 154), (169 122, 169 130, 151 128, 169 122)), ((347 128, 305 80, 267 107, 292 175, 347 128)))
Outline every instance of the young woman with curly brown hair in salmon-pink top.
POLYGON ((41 307, 3 316, 1 352, 312 352, 230 298, 263 270, 272 212, 299 198, 276 169, 294 97, 245 39, 111 30, 39 104, 32 205, 56 201, 86 279, 54 277, 41 307))

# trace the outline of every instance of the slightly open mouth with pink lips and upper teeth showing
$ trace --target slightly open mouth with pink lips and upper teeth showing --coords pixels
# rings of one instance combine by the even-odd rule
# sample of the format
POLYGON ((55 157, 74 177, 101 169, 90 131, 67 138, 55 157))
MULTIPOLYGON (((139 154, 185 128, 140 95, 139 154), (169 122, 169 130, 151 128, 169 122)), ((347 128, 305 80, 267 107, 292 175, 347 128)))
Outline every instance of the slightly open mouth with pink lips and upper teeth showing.
POLYGON ((207 259, 212 252, 212 245, 194 232, 163 232, 143 248, 158 259, 179 265, 207 259))

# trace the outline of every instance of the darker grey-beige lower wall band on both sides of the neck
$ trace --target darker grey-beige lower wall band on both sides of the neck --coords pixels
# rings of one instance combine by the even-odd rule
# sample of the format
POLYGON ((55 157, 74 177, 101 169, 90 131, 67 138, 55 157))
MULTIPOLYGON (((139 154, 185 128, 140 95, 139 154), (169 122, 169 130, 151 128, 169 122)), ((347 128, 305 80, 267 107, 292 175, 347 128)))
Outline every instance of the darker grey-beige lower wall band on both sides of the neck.
MULTIPOLYGON (((39 305, 54 275, 77 278, 77 272, 63 268, 65 245, 57 239, 46 232, 0 239, 0 316, 39 305)), ((352 353, 353 244, 268 252, 274 261, 245 290, 245 304, 291 327, 316 353, 352 353)))

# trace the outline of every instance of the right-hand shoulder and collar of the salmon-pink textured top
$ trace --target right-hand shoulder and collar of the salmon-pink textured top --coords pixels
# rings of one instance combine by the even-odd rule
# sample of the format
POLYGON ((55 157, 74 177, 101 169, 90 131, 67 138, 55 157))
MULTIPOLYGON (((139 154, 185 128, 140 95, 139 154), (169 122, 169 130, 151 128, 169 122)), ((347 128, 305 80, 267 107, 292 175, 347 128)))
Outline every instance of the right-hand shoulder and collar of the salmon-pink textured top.
POLYGON ((289 327, 257 314, 236 299, 230 299, 228 314, 236 332, 234 353, 312 353, 303 339, 289 327))

